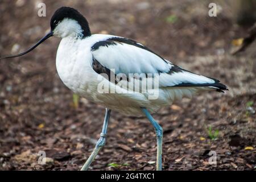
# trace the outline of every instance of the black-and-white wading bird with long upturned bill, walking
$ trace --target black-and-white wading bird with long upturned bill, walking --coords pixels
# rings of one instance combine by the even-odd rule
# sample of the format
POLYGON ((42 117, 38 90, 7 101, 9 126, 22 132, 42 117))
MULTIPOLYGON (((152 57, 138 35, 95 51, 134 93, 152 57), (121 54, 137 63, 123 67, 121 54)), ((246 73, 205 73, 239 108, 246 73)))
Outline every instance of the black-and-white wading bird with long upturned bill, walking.
POLYGON ((92 34, 84 16, 71 7, 61 7, 55 11, 51 18, 51 31, 35 46, 2 59, 22 56, 51 36, 61 38, 56 55, 60 79, 81 97, 106 107, 100 139, 82 170, 89 168, 105 144, 111 110, 146 115, 155 128, 156 169, 161 170, 163 129, 151 113, 201 91, 227 90, 220 81, 172 64, 134 40, 92 34), (156 97, 150 98, 152 93, 156 97))

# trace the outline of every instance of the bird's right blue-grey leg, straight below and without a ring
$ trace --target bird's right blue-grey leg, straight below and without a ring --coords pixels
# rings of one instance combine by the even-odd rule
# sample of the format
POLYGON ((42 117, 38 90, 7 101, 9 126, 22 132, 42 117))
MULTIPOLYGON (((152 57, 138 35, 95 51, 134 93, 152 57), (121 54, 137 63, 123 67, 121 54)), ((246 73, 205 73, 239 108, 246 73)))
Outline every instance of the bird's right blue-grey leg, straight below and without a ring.
POLYGON ((158 124, 158 122, 155 121, 155 119, 152 117, 152 115, 147 111, 146 108, 142 108, 143 113, 146 115, 148 120, 151 122, 151 124, 155 127, 155 134, 156 134, 156 141, 158 144, 157 148, 157 156, 156 156, 156 170, 161 171, 162 170, 162 144, 163 144, 163 129, 158 124))

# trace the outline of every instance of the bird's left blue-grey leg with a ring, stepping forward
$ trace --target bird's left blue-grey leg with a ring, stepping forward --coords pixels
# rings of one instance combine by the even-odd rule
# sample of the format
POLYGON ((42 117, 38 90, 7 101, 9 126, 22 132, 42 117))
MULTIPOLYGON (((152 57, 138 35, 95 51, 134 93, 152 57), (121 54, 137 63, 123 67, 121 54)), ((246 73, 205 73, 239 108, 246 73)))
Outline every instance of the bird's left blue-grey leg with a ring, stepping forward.
POLYGON ((110 112, 111 110, 106 108, 106 114, 105 114, 104 124, 101 131, 101 137, 100 139, 98 139, 98 142, 96 143, 96 146, 92 154, 90 154, 90 157, 86 160, 84 166, 81 168, 81 171, 86 171, 89 168, 90 164, 93 162, 94 158, 98 154, 98 151, 100 151, 100 149, 105 145, 110 112))

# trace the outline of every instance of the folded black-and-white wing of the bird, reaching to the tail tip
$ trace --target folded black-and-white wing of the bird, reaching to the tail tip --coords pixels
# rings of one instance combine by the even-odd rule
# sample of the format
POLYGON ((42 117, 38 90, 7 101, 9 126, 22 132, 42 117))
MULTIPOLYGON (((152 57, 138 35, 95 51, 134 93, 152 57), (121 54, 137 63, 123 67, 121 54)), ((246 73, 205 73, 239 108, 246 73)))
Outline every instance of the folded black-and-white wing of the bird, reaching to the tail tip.
POLYGON ((93 69, 97 73, 114 71, 125 74, 144 73, 145 77, 159 76, 159 87, 208 87, 218 92, 226 90, 220 81, 189 72, 134 40, 110 36, 106 40, 95 43, 91 52, 93 69))

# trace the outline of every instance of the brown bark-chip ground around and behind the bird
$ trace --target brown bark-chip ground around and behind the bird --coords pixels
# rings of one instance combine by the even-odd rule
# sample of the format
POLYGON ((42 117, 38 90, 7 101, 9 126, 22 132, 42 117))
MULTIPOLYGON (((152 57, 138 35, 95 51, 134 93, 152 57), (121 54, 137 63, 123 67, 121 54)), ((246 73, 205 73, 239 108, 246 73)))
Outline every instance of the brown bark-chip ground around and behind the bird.
MULTIPOLYGON (((38 41, 58 7, 75 7, 92 32, 137 40, 229 87, 225 94, 201 93, 154 114, 164 130, 164 170, 255 170, 255 44, 230 54, 232 41, 246 36, 247 28, 234 23, 228 5, 209 17, 208 1, 44 2, 46 17, 37 16, 38 1, 0 2, 0 57, 38 41), (217 164, 209 164, 210 151, 217 164)), ((85 99, 74 105, 56 73, 59 41, 51 38, 26 56, 0 60, 2 170, 78 170, 100 137, 105 108, 85 99), (46 152, 46 165, 38 164, 39 151, 46 152)), ((90 169, 151 170, 155 160, 155 133, 147 119, 113 111, 106 146, 90 169)))

